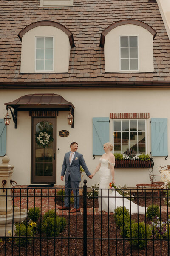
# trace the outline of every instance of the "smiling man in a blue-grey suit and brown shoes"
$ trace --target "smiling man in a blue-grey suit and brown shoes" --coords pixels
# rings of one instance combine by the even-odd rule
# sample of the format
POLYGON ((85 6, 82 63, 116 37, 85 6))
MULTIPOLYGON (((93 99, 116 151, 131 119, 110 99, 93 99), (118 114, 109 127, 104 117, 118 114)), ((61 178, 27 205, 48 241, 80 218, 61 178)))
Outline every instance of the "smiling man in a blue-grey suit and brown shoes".
POLYGON ((71 189, 73 188, 74 194, 74 209, 70 212, 80 212, 79 208, 79 183, 81 181, 80 174, 80 165, 85 170, 86 175, 92 179, 92 175, 89 172, 85 160, 82 154, 77 152, 78 144, 77 142, 72 142, 70 144, 71 151, 66 153, 64 156, 64 161, 62 164, 61 171, 61 180, 63 181, 65 175, 65 199, 64 199, 64 207, 59 206, 59 209, 68 210, 69 209, 69 200, 67 197, 71 195, 71 189), (66 172, 66 173, 65 173, 66 172))

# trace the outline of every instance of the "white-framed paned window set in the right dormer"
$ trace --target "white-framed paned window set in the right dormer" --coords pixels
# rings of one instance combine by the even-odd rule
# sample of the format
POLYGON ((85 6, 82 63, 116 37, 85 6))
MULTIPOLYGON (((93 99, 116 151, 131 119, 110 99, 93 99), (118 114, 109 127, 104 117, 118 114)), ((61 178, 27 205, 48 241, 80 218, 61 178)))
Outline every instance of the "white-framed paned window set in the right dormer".
POLYGON ((120 69, 138 70, 138 36, 120 36, 120 69))

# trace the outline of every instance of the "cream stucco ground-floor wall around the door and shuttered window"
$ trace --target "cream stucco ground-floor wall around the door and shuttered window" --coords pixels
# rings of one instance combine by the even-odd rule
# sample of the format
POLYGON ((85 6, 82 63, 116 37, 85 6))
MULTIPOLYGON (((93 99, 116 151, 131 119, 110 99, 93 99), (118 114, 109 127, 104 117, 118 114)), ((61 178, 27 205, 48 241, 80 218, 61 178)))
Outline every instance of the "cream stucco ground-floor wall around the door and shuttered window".
MULTIPOLYGON (((63 96, 75 106, 74 129, 68 125, 68 111, 59 111, 57 116, 57 185, 64 184, 60 180, 62 161, 65 152, 70 150, 72 141, 79 144, 78 151, 84 156, 85 162, 91 173, 99 163, 100 156, 93 160, 92 154, 92 118, 109 117, 110 112, 149 112, 150 118, 168 118, 170 127, 170 89, 95 89, 95 90, 1 90, 0 91, 0 118, 6 114, 4 103, 11 102, 20 96, 29 93, 56 93, 63 96), (161 100, 162 99, 162 100, 161 100), (166 102, 166 108, 164 105, 166 102), (68 137, 60 137, 60 130, 68 130, 68 137)), ((10 113, 10 112, 9 112, 10 113)), ((150 119, 147 119, 147 153, 150 154, 150 119)), ((169 131, 169 129, 168 129, 169 131)), ((112 122, 110 122, 110 141, 112 142, 112 122)), ((170 150, 170 136, 168 134, 168 148, 170 150)), ((13 180, 18 184, 30 184, 31 181, 31 117, 28 111, 18 112, 17 129, 11 120, 7 127, 7 155, 10 163, 14 165, 13 180)), ((1 159, 2 157, 0 157, 1 159)), ((154 157, 153 172, 158 174, 158 167, 170 164, 170 158, 154 157)), ((86 177, 86 175, 84 175, 86 177)), ((83 177, 83 179, 84 179, 83 177)), ((88 186, 99 180, 96 174, 93 180, 88 179, 88 186)), ((117 168, 115 169, 116 185, 135 186, 137 183, 150 183, 147 168, 117 168)))

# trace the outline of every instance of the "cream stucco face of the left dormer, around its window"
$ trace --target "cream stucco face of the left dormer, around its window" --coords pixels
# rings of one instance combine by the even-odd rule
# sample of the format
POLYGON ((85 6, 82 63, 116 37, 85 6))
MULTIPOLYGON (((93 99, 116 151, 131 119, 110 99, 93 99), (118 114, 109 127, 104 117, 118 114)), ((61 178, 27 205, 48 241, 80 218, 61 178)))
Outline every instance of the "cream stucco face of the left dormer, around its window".
POLYGON ((38 73, 35 72, 36 36, 54 36, 54 72, 68 72, 71 49, 68 35, 53 26, 39 26, 29 30, 22 37, 21 73, 38 73))

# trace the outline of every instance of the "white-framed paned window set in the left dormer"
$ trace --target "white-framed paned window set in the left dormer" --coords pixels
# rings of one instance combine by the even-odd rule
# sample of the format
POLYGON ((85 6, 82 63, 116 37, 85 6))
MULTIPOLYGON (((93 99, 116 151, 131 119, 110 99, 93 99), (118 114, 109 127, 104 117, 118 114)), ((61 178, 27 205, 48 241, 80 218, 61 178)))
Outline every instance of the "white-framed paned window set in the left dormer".
POLYGON ((35 71, 54 70, 53 41, 53 37, 36 37, 35 71))

